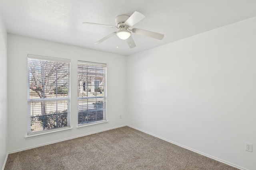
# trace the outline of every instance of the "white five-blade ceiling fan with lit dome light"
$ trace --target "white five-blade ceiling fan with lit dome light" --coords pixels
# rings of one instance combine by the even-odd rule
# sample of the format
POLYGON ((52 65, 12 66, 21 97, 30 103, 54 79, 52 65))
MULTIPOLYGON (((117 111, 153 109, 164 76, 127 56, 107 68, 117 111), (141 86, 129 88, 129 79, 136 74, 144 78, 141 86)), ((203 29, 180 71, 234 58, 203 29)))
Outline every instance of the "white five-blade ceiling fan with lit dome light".
POLYGON ((104 26, 119 29, 118 31, 113 32, 113 33, 107 35, 106 37, 100 39, 95 44, 102 43, 106 39, 108 39, 116 34, 120 39, 126 40, 130 48, 134 48, 134 47, 136 47, 136 44, 134 43, 134 41, 132 39, 131 31, 136 34, 145 35, 145 36, 152 37, 155 39, 162 40, 164 38, 164 35, 160 34, 160 33, 146 31, 146 30, 138 29, 138 28, 129 29, 130 27, 132 27, 133 25, 135 25, 136 23, 138 23, 139 21, 141 21, 144 18, 145 18, 145 16, 143 14, 135 11, 131 16, 127 16, 127 15, 117 16, 115 19, 116 26, 104 25, 104 24, 100 24, 100 23, 90 23, 90 22, 83 22, 83 23, 93 24, 93 25, 104 25, 104 26))

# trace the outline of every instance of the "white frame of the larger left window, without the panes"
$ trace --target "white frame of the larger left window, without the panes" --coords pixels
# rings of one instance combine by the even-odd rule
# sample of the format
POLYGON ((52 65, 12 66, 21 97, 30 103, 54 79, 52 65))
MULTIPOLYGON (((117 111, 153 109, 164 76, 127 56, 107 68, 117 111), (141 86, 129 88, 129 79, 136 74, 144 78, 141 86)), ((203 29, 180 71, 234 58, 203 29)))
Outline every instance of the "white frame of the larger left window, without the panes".
MULTIPOLYGON (((62 58, 55 58, 55 57, 46 57, 46 56, 40 56, 40 55, 30 55, 28 54, 28 97, 27 97, 27 100, 28 100, 28 129, 27 129, 27 132, 28 132, 28 135, 38 135, 38 134, 47 134, 47 133, 52 133, 52 132, 56 132, 56 131, 63 131, 65 129, 72 129, 71 126, 70 126, 70 67, 71 67, 71 61, 70 59, 62 59, 62 58), (41 60, 41 61, 44 61, 44 62, 62 62, 64 64, 67 64, 67 75, 68 75, 68 81, 67 81, 67 86, 68 86, 68 95, 66 97, 59 97, 58 98, 58 95, 56 94, 56 97, 54 98, 30 98, 30 65, 29 65, 29 60, 32 59, 32 60, 41 60), (63 127, 54 127, 54 128, 50 128, 50 129, 44 129, 43 130, 38 130, 38 131, 34 131, 32 132, 31 131, 31 104, 33 102, 60 102, 60 101, 65 101, 67 106, 66 106, 66 110, 67 110, 67 125, 66 126, 63 126, 63 127)), ((61 70, 62 71, 62 70, 61 70)), ((58 82, 58 81, 57 81, 58 82)), ((57 83, 56 83, 57 84, 57 83)), ((58 105, 56 105, 57 109, 58 110, 58 105)), ((66 113, 64 113, 66 114, 66 113)), ((56 114, 58 115, 58 113, 56 114)))

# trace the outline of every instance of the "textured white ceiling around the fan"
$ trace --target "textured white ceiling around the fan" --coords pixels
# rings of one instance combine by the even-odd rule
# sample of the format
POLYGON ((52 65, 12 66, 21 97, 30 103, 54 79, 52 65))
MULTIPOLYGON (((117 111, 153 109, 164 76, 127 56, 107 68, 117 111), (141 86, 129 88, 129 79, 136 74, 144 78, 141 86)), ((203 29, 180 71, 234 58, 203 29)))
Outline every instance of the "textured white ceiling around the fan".
MULTIPOLYGON (((256 0, 0 0, 8 33, 131 55, 211 29, 256 16, 256 0), (134 25, 164 34, 163 40, 132 34, 137 47, 112 36, 119 15, 138 11, 146 16, 134 25), (118 46, 118 49, 116 48, 118 46)), ((133 28, 133 27, 132 27, 133 28)))

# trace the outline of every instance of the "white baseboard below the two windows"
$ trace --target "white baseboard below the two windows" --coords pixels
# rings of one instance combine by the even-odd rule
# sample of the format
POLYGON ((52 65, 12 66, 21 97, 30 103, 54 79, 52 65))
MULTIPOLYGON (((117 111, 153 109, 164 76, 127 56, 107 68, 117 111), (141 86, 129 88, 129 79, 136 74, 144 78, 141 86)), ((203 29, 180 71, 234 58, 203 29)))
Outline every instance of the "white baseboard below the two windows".
POLYGON ((78 136, 74 136, 74 137, 70 137, 70 138, 66 138, 66 139, 62 139, 62 140, 58 140, 58 141, 44 143, 44 144, 41 144, 41 145, 35 145, 35 146, 32 146, 32 147, 22 148, 22 149, 18 149, 18 150, 12 150, 12 151, 8 152, 8 154, 12 154, 12 153, 15 153, 15 152, 20 152, 22 150, 28 150, 28 149, 33 149, 33 148, 37 148, 37 147, 42 147, 44 145, 50 145, 50 144, 58 143, 58 142, 62 142, 62 141, 67 141, 67 140, 75 139, 75 138, 78 138, 78 137, 92 135, 92 134, 95 134, 95 133, 100 133, 100 132, 104 132, 104 131, 108 131, 108 130, 111 130, 111 129, 116 129, 116 128, 124 127, 124 126, 127 126, 127 125, 122 125, 122 126, 118 126, 118 127, 112 127, 112 128, 104 129, 104 130, 101 130, 101 131, 95 131, 95 132, 91 132, 91 133, 86 133, 86 134, 83 134, 83 135, 78 135, 78 136))

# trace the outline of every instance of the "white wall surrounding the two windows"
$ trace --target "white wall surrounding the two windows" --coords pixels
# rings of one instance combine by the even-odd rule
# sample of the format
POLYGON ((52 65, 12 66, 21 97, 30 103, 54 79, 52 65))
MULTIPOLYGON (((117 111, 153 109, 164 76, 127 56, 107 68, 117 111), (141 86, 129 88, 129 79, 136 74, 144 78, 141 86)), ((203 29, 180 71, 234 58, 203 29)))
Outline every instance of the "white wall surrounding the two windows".
POLYGON ((126 125, 126 57, 8 34, 8 150, 14 152, 126 125), (27 134, 27 55, 71 59, 71 131, 33 139, 27 134), (77 61, 107 64, 108 123, 77 129, 77 61), (122 119, 119 119, 122 115, 122 119))

